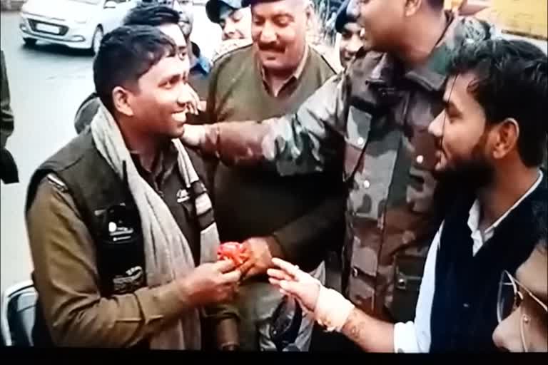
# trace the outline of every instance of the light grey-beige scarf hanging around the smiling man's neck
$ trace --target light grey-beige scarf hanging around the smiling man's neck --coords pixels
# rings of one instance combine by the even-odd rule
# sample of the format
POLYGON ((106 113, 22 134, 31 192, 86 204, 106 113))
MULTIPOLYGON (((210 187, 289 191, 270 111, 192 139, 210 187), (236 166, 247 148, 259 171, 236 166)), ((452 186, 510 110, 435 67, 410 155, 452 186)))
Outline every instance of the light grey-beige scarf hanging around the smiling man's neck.
MULTIPOLYGON (((184 277, 195 267, 186 237, 166 203, 138 174, 116 121, 102 103, 91 122, 91 133, 97 150, 120 178, 123 177, 123 161, 126 161, 129 190, 141 217, 148 287, 168 284, 178 277, 184 277)), ((199 180, 198 175, 181 141, 173 140, 173 144, 178 150, 178 168, 189 190, 191 184, 199 180)), ((211 210, 211 201, 205 192, 196 198, 195 204, 198 216, 211 210)), ((202 227, 201 262, 215 261, 218 245, 215 222, 202 227)), ((199 309, 181 313, 180 321, 153 336, 151 348, 201 349, 199 309)))

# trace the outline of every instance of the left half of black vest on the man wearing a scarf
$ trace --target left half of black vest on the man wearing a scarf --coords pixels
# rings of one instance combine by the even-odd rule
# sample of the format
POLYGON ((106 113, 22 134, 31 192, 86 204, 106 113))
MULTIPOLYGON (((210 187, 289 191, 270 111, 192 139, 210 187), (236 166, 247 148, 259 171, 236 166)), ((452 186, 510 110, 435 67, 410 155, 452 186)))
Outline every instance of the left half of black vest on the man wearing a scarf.
MULTIPOLYGON (((36 170, 29 184, 26 210, 34 200, 39 183, 49 173, 55 173, 66 184, 96 243, 101 296, 134 292, 146 286, 146 260, 137 207, 126 183, 96 150, 89 128, 36 170)), ((40 300, 33 336, 36 346, 53 345, 40 300)))

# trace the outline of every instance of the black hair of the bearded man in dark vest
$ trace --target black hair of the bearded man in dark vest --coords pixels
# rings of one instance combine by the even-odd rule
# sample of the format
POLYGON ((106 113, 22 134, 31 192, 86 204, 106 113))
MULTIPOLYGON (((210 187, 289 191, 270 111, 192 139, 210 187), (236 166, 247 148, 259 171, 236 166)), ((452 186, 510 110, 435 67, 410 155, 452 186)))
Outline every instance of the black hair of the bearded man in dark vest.
POLYGON ((524 165, 539 166, 547 146, 548 56, 528 41, 494 38, 467 44, 452 58, 450 73, 472 71, 469 91, 487 123, 514 118, 524 165))

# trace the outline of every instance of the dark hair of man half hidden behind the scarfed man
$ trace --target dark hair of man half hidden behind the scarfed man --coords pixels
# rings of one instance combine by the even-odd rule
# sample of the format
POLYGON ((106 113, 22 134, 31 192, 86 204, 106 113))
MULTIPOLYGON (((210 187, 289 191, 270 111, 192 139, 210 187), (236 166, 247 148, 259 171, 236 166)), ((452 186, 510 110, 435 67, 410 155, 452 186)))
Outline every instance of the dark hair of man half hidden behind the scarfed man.
POLYGON ((175 9, 159 4, 140 4, 131 9, 123 19, 126 26, 161 26, 163 24, 179 24, 181 16, 175 9))

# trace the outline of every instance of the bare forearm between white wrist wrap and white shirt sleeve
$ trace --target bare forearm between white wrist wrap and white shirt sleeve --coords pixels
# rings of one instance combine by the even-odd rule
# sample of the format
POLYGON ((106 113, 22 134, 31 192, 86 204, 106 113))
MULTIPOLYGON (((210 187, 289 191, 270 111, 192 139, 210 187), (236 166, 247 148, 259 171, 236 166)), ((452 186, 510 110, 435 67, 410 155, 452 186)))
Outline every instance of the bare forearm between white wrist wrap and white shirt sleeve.
POLYGON ((342 334, 367 352, 394 352, 394 324, 370 317, 360 309, 352 309, 342 334))

